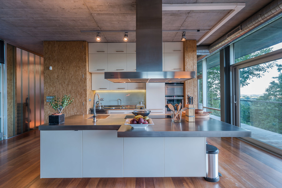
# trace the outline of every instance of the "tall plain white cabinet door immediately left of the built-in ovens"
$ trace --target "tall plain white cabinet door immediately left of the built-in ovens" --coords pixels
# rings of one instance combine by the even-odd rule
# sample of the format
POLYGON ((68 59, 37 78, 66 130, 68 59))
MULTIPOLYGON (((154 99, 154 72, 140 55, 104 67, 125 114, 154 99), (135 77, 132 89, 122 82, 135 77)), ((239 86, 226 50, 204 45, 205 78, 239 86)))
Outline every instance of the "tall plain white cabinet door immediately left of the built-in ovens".
POLYGON ((146 83, 146 109, 165 111, 165 83, 146 83))

